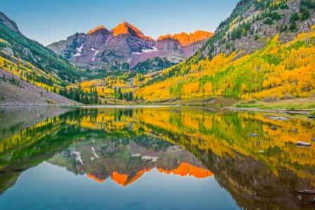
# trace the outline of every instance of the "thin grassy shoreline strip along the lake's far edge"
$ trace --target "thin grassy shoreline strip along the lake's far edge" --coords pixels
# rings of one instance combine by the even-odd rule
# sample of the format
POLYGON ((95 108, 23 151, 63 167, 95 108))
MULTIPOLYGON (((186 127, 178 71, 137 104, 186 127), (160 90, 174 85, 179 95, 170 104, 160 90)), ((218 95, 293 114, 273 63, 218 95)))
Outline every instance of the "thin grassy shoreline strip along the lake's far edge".
MULTIPOLYGON (((0 106, 11 106, 9 104, 0 106)), ((17 106, 17 105, 12 105, 17 106)), ((18 105, 27 106, 27 105, 18 105)), ((31 105, 38 106, 38 105, 31 105)), ((47 106, 66 106, 66 107, 102 107, 102 106, 195 106, 195 107, 214 107, 225 110, 246 110, 255 112, 283 112, 290 114, 310 114, 315 116, 315 98, 295 98, 288 100, 276 100, 273 102, 263 101, 243 101, 233 100, 231 98, 198 98, 198 99, 181 99, 169 101, 143 102, 143 101, 115 101, 103 105, 52 105, 47 106)))

